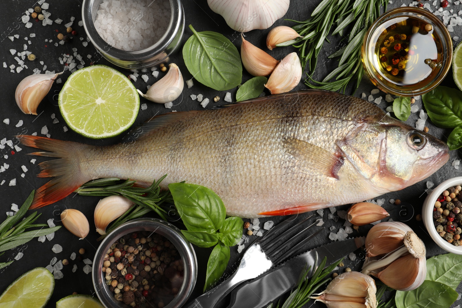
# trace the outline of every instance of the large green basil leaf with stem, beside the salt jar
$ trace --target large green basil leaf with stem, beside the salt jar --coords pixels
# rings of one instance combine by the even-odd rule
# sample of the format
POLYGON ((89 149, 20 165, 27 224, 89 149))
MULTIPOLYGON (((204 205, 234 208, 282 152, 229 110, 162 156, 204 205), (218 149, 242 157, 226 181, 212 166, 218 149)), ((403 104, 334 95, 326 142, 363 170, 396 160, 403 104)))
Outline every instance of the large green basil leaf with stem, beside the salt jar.
POLYGON ((188 71, 201 84, 217 91, 229 90, 241 83, 241 57, 230 40, 213 32, 196 32, 183 46, 183 60, 188 71))

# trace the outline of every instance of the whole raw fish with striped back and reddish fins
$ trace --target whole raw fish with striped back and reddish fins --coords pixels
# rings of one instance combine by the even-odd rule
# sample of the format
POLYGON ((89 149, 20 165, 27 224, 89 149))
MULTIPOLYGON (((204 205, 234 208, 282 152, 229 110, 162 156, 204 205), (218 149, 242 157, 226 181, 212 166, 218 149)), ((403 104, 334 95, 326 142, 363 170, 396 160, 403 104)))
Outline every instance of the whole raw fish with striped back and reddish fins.
POLYGON ((362 99, 328 91, 164 114, 135 132, 140 136, 131 135, 130 142, 106 147, 20 136, 25 145, 61 157, 49 161, 42 175, 56 175, 58 165, 68 170, 39 189, 33 206, 61 199, 63 187, 72 192, 95 178, 151 183, 167 174, 162 188, 179 181, 209 187, 223 199, 228 215, 285 215, 402 189, 447 161, 447 146, 440 140, 362 99), (410 134, 427 140, 423 149, 409 145, 410 134))

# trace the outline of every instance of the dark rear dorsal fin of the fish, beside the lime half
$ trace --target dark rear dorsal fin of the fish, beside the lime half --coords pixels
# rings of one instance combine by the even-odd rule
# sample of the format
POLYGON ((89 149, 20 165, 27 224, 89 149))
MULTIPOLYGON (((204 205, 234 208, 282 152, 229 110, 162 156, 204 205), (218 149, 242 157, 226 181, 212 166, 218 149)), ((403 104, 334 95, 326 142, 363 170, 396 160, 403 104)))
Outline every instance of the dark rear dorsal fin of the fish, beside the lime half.
POLYGON ((168 112, 162 115, 155 115, 152 118, 144 121, 134 129, 132 129, 123 139, 122 143, 132 143, 135 140, 138 140, 157 129, 164 127, 166 125, 175 123, 177 121, 185 120, 191 116, 196 115, 199 112, 204 112, 203 110, 190 110, 190 111, 181 111, 181 112, 168 112))

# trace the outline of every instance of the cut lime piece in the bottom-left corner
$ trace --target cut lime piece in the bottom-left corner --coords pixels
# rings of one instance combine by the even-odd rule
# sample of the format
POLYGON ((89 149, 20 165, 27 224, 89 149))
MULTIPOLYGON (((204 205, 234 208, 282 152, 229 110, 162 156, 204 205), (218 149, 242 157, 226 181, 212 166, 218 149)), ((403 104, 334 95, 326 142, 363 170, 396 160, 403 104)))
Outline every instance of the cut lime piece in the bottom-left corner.
POLYGON ((55 278, 46 268, 36 267, 13 281, 0 296, 0 308, 45 307, 55 288, 55 278))

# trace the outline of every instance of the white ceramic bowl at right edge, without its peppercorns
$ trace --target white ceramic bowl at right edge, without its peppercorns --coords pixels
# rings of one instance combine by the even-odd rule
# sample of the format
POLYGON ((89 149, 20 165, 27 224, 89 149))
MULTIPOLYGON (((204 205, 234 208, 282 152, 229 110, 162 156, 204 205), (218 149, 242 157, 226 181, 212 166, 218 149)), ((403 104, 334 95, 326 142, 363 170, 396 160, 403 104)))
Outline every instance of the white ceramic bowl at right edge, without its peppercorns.
POLYGON ((454 246, 451 243, 446 242, 436 231, 433 223, 433 207, 438 197, 446 190, 446 188, 461 185, 462 176, 453 177, 449 180, 439 184, 433 191, 427 196, 422 206, 422 219, 428 233, 432 236, 432 239, 439 247, 453 254, 462 254, 462 245, 454 246))

